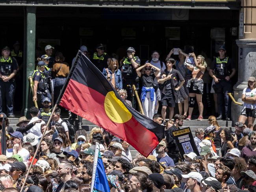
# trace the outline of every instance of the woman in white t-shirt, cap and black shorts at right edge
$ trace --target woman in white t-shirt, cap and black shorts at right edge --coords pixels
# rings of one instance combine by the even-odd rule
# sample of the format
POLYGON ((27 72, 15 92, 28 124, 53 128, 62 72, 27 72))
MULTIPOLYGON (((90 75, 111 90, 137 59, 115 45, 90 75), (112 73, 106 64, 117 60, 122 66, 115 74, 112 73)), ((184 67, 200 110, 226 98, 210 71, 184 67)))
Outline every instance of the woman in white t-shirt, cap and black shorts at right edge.
POLYGON ((243 109, 239 116, 239 122, 245 124, 247 120, 250 129, 253 129, 253 123, 256 118, 256 78, 249 77, 248 86, 243 89, 242 94, 243 109))

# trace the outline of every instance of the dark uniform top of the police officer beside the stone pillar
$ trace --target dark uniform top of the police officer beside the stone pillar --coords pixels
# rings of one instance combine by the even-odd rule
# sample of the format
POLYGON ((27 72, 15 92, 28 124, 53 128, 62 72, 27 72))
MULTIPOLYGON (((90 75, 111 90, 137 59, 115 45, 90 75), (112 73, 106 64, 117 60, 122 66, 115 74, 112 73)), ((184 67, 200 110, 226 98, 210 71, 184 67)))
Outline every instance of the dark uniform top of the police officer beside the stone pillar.
MULTIPOLYGON (((226 57, 224 59, 226 59, 226 57)), ((224 59, 220 59, 220 60, 223 61, 224 59)), ((226 76, 229 76, 232 73, 233 68, 236 68, 236 67, 232 59, 229 57, 228 57, 227 63, 217 63, 216 59, 214 59, 211 62, 211 67, 210 67, 211 70, 215 71, 216 78, 219 78, 219 79, 225 79, 226 76)))

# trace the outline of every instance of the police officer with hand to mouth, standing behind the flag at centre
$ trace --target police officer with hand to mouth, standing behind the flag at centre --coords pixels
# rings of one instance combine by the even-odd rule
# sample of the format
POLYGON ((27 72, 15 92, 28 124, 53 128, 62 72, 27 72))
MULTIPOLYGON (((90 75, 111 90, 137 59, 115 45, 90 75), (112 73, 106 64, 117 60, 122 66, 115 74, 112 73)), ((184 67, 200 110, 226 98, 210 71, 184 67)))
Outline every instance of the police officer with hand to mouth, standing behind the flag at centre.
POLYGON ((123 77, 122 87, 124 87, 124 89, 126 89, 128 85, 131 85, 131 86, 135 85, 136 87, 138 87, 139 79, 135 69, 138 68, 139 65, 141 64, 141 60, 139 59, 139 57, 134 56, 135 49, 133 47, 129 47, 126 50, 126 53, 127 53, 127 57, 124 57, 120 61, 120 65, 122 67, 121 69, 122 77, 123 77))

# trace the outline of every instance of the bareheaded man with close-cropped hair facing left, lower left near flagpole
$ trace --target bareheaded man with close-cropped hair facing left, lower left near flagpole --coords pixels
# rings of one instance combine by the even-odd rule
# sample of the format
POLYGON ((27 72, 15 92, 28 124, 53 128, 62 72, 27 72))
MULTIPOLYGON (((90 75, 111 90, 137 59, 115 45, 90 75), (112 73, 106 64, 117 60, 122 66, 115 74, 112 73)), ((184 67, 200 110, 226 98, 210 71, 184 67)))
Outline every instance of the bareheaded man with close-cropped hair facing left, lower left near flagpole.
POLYGON ((61 188, 64 186, 64 184, 71 179, 72 170, 73 170, 73 165, 71 163, 63 161, 59 164, 57 171, 58 171, 59 177, 63 179, 63 182, 59 183, 59 186, 56 189, 56 192, 59 192, 61 188))

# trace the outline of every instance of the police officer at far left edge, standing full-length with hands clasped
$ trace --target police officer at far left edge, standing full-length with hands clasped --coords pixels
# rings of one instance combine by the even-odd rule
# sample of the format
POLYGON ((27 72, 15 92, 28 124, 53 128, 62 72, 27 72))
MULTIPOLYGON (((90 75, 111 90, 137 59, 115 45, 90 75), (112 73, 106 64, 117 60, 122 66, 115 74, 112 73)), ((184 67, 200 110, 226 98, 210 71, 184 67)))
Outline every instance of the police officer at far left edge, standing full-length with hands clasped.
POLYGON ((13 114, 13 94, 15 90, 14 77, 17 73, 18 64, 15 58, 10 57, 10 48, 2 49, 0 59, 0 112, 2 113, 2 101, 6 98, 7 116, 15 117, 13 114))

